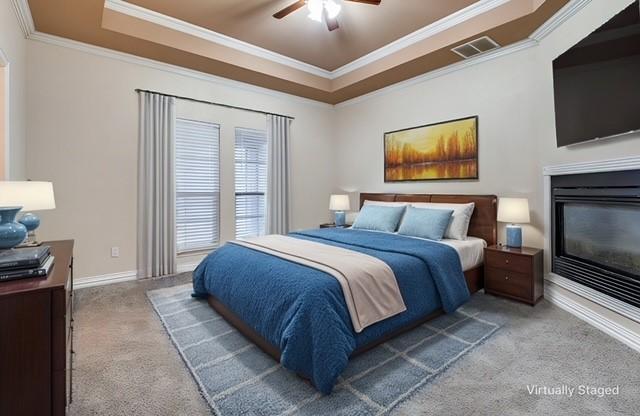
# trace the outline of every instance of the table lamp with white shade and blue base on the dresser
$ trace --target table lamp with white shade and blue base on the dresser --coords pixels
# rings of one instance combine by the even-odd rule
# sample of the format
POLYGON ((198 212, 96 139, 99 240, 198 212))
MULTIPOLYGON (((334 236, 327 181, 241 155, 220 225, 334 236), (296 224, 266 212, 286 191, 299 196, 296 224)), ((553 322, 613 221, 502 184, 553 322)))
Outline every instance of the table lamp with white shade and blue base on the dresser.
POLYGON ((0 207, 21 207, 22 211, 26 212, 18 220, 18 223, 22 224, 28 233, 25 245, 37 246, 40 243, 36 241, 35 230, 40 226, 40 218, 31 211, 55 209, 53 184, 36 181, 0 182, 0 207))

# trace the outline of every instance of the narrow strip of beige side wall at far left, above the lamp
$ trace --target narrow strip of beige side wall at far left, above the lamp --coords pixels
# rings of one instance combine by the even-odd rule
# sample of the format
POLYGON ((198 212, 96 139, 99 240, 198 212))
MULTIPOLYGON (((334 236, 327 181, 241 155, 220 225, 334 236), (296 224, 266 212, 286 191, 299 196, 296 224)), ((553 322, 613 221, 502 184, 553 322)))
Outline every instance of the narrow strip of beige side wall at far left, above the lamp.
MULTIPOLYGON (((5 129, 8 123, 8 135, 5 131, 4 155, 5 168, 9 165, 9 179, 24 179, 26 177, 26 66, 27 66, 27 41, 18 25, 11 0, 0 0, 0 54, 6 57, 8 66, 2 70, 5 79, 9 79, 8 85, 4 85, 4 94, 9 95, 8 108, 6 101, 4 119, 5 129), (7 76, 8 74, 8 76, 7 76)), ((1 60, 1 59, 0 59, 1 60)), ((3 66, 0 63, 0 66, 3 66)))

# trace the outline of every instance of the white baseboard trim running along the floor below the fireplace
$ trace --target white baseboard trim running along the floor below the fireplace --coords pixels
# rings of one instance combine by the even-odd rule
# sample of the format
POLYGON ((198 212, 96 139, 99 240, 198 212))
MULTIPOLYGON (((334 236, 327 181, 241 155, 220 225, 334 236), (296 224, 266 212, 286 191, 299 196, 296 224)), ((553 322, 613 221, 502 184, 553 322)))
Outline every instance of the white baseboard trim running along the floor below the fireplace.
POLYGON ((564 309, 572 315, 598 328, 605 334, 612 336, 623 344, 640 352, 640 334, 625 328, 593 309, 585 305, 581 305, 575 300, 563 295, 559 290, 553 287, 553 284, 545 286, 544 297, 554 305, 564 309))

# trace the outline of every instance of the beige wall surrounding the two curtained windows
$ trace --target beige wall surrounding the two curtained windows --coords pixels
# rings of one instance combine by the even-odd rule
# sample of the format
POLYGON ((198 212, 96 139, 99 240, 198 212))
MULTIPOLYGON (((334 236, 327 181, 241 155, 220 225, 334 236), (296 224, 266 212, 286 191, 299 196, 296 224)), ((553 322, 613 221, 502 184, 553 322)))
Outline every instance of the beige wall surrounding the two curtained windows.
MULTIPOLYGON (((135 88, 296 117, 292 125, 293 227, 314 227, 328 219, 333 184, 331 107, 37 41, 30 41, 28 46, 27 169, 30 178, 53 181, 57 204, 55 210, 41 213, 39 238, 74 238, 79 278, 136 268, 135 88), (119 258, 111 258, 114 246, 120 247, 119 258)), ((179 106, 179 111, 191 110, 187 105, 179 106)), ((256 115, 206 106, 193 111, 222 126, 221 237, 230 238, 234 220, 233 170, 229 170, 233 142, 229 132, 236 125, 254 125, 256 115)))

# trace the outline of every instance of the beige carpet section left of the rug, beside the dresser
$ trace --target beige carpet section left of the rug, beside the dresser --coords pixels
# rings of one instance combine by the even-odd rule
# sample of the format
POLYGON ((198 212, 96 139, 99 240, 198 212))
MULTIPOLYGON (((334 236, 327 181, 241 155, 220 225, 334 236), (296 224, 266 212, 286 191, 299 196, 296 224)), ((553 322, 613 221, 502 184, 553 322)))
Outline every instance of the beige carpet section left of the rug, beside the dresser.
POLYGON ((146 296, 190 280, 76 291, 72 416, 211 414, 146 296))

